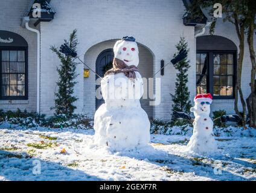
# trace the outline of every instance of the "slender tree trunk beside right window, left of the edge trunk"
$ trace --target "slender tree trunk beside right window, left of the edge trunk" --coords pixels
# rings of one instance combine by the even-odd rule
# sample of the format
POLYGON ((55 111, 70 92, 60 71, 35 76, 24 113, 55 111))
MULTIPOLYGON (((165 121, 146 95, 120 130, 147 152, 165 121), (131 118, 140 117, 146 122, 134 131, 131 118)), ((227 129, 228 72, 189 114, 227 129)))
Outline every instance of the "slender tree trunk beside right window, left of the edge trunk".
POLYGON ((243 92, 241 88, 241 77, 242 77, 242 67, 243 67, 243 56, 245 52, 245 26, 238 24, 237 16, 235 16, 235 29, 237 31, 237 36, 239 39, 239 53, 238 53, 238 60, 237 60, 237 81, 235 83, 235 103, 234 103, 234 110, 237 115, 240 116, 242 119, 243 127, 246 127, 246 102, 243 97, 243 92), (240 96, 240 101, 242 104, 242 115, 238 110, 238 93, 240 96))

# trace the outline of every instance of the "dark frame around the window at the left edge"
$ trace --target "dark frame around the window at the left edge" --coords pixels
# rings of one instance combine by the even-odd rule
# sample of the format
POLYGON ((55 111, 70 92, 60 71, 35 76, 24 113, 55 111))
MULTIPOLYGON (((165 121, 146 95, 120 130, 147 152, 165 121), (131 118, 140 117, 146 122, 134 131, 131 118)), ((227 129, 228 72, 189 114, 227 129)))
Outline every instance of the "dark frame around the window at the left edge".
POLYGON ((25 46, 0 46, 0 100, 28 100, 28 48, 25 46), (2 51, 25 51, 25 95, 24 96, 2 96, 2 51))

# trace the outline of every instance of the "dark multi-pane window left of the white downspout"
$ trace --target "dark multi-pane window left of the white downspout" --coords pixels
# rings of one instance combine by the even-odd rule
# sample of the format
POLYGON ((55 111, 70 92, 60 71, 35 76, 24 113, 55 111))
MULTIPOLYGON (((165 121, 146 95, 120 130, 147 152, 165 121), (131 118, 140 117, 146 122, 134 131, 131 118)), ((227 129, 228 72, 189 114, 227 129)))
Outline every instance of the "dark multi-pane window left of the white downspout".
POLYGON ((0 98, 27 99, 27 49, 0 49, 0 98))

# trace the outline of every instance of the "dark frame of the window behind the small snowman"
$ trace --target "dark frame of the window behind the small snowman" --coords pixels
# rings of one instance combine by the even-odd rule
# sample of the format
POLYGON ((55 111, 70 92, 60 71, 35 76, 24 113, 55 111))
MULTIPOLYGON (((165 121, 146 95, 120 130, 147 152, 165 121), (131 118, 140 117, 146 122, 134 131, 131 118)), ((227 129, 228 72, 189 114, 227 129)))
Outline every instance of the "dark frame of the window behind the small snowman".
MULTIPOLYGON (((213 96, 213 99, 217 100, 225 100, 225 99, 234 99, 235 98, 235 84, 237 80, 237 51, 234 50, 197 50, 196 54, 207 54, 208 59, 208 68, 207 68, 207 79, 206 79, 206 90, 207 93, 211 93, 213 96), (213 55, 214 54, 233 54, 233 62, 234 62, 234 75, 233 75, 233 94, 230 96, 216 96, 213 95, 213 73, 214 73, 214 61, 213 61, 213 55)), ((197 86, 197 85, 196 85, 197 86)))

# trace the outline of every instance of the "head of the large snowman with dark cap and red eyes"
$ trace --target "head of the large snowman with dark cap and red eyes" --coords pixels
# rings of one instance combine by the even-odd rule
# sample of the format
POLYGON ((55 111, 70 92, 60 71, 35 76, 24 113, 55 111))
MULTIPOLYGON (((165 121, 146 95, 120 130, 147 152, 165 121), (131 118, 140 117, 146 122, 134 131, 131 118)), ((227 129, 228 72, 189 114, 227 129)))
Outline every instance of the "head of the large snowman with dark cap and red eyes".
POLYGON ((123 37, 114 45, 115 58, 123 60, 127 66, 139 65, 139 50, 135 39, 131 36, 123 37))

